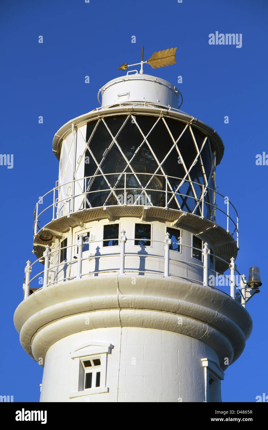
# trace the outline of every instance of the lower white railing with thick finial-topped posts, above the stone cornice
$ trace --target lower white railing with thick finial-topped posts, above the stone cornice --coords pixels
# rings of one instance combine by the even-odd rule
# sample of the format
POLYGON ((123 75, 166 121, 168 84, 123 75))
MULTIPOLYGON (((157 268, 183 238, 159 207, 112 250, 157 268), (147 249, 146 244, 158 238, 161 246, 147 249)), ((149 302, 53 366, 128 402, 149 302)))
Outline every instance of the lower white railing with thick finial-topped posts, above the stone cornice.
MULTIPOLYGON (((139 273, 154 273, 154 274, 161 275, 161 276, 164 276, 164 277, 179 277, 181 279, 187 279, 189 281, 193 281, 195 283, 202 284, 202 281, 199 280, 199 279, 193 279, 193 278, 190 278, 189 276, 177 275, 176 273, 169 273, 170 261, 176 261, 176 263, 184 264, 185 266, 186 265, 190 265, 190 266, 196 266, 196 267, 199 267, 199 268, 203 267, 203 286, 205 286, 205 287, 211 287, 213 289, 217 289, 217 290, 219 290, 219 291, 224 292, 225 294, 227 294, 225 291, 216 288, 215 283, 214 283, 213 286, 209 285, 209 282, 208 282, 209 281, 209 273, 215 273, 216 274, 216 276, 214 276, 215 279, 216 279, 217 276, 219 277, 219 272, 216 272, 216 270, 214 270, 215 259, 213 260, 213 267, 210 267, 211 266, 211 257, 218 258, 220 261, 222 261, 225 264, 227 264, 227 266, 230 268, 231 275, 225 276, 222 273, 220 273, 220 275, 223 276, 225 279, 228 279, 228 283, 230 283, 230 281, 231 281, 231 297, 232 298, 234 298, 235 287, 237 288, 238 291, 240 291, 241 288, 245 288, 244 284, 243 284, 242 287, 236 285, 236 279, 235 279, 234 273, 235 273, 235 271, 237 271, 237 273, 239 273, 239 272, 238 272, 238 270, 235 267, 234 258, 231 258, 231 264, 230 264, 228 261, 225 261, 221 257, 218 257, 215 254, 210 254, 210 249, 209 249, 207 243, 204 243, 203 244, 203 248, 201 249, 201 248, 197 248, 197 247, 194 247, 194 246, 191 246, 191 245, 186 245, 186 244, 183 244, 183 243, 180 243, 180 242, 181 241, 174 242, 174 243, 176 243, 176 244, 178 244, 179 246, 182 246, 182 247, 185 246, 186 248, 190 248, 190 249, 197 250, 198 252, 202 252, 202 260, 200 260, 200 264, 197 264, 197 263, 195 263, 193 261, 189 261, 189 260, 182 260, 182 259, 178 259, 178 258, 170 258, 169 251, 170 251, 171 239, 169 237, 169 233, 168 232, 165 233, 165 239, 164 240, 142 239, 142 238, 135 238, 135 237, 134 238, 127 238, 126 235, 125 235, 125 231, 121 230, 118 239, 117 238, 115 238, 115 239, 97 239, 97 240, 89 240, 89 241, 84 241, 83 240, 83 233, 80 233, 78 241, 76 243, 74 243, 72 245, 62 246, 61 248, 55 249, 55 250, 53 250, 51 252, 49 250, 49 246, 47 245, 46 246, 46 251, 44 252, 43 257, 37 258, 37 260, 34 261, 34 263, 32 263, 32 264, 31 264, 30 261, 27 261, 27 266, 25 267, 25 297, 28 297, 30 283, 34 279, 36 279, 37 276, 40 276, 42 274, 44 274, 44 282, 43 282, 43 287, 40 287, 40 288, 45 288, 47 286, 54 285, 56 283, 61 282, 62 280, 66 281, 68 279, 81 278, 82 276, 92 276, 92 275, 96 275, 96 274, 99 276, 99 274, 111 273, 111 272, 112 273, 116 272, 119 275, 123 275, 126 272, 132 272, 132 273, 136 273, 136 272, 139 272, 139 273), (104 252, 102 254, 95 255, 94 253, 91 253, 89 251, 90 254, 87 257, 83 257, 83 247, 84 247, 85 244, 87 244, 87 243, 99 243, 99 242, 105 242, 105 241, 111 241, 111 240, 117 240, 118 244, 120 243, 120 251, 119 252, 108 252, 108 253, 104 252), (126 241, 133 241, 133 240, 134 241, 135 240, 138 240, 138 241, 145 240, 145 241, 150 242, 150 243, 152 243, 152 242, 154 242, 154 243, 162 243, 163 246, 164 246, 164 252, 163 252, 163 254, 156 254, 156 253, 153 253, 153 252, 152 253, 145 252, 145 253, 137 254, 136 252, 132 252, 132 251, 128 251, 128 250, 126 251, 125 250, 125 243, 126 243, 126 241), (77 254, 78 257, 76 259, 72 259, 71 258, 70 260, 68 260, 68 258, 66 257, 63 261, 58 261, 57 264, 54 264, 54 265, 52 265, 52 266, 49 267, 49 259, 52 257, 52 255, 54 255, 55 252, 57 252, 58 255, 60 256, 61 255, 61 251, 63 249, 67 249, 67 248, 71 248, 72 249, 73 247, 76 247, 76 246, 78 247, 78 254, 77 254), (120 264, 119 269, 117 267, 114 267, 112 269, 105 268, 105 269, 101 269, 101 270, 95 270, 94 272, 82 273, 82 261, 86 261, 86 260, 90 261, 92 259, 103 258, 103 257, 110 257, 111 258, 111 256, 116 257, 117 261, 119 260, 119 264, 120 264), (141 257, 144 257, 145 259, 147 259, 147 258, 149 258, 149 259, 153 258, 154 259, 155 258, 161 264, 162 264, 162 262, 164 262, 164 270, 162 270, 162 269, 161 270, 160 269, 159 270, 153 270, 153 269, 151 270, 151 269, 147 269, 147 268, 145 269, 145 267, 143 269, 141 269, 141 270, 138 269, 138 268, 131 268, 131 269, 126 268, 125 267, 125 257, 130 257, 130 256, 131 257, 136 256, 136 257, 138 257, 138 259, 141 258, 141 257), (43 259, 45 260, 44 270, 42 272, 38 273, 37 275, 35 275, 32 279, 30 279, 30 274, 31 274, 32 266, 37 261, 40 261, 40 260, 43 260, 43 259), (161 259, 161 261, 159 261, 159 259, 161 259), (67 267, 70 267, 70 270, 71 270, 71 267, 75 263, 77 263, 77 276, 70 275, 71 272, 69 271, 69 275, 70 276, 67 276, 67 272, 66 272, 65 276, 64 276, 64 279, 58 279, 58 274, 62 271, 62 268, 61 268, 62 266, 66 265, 67 267), (49 272, 50 273, 53 273, 53 272, 56 273, 55 269, 58 269, 57 279, 55 280, 55 277, 54 277, 53 282, 49 282, 49 276, 48 276, 48 274, 49 274, 49 272)), ((103 247, 102 250, 105 251, 105 248, 103 247)), ((133 259, 132 259, 132 261, 133 261, 133 259)), ((174 265, 173 265, 173 267, 174 267, 174 265)), ((181 266, 179 265, 179 267, 181 267, 181 266)), ((196 272, 194 269, 192 269, 192 270, 193 270, 193 273, 198 273, 199 276, 201 276, 201 274, 199 272, 196 272)), ((240 275, 240 273, 239 273, 239 275, 240 275)), ((241 277, 241 279, 243 279, 241 275, 240 275, 240 277, 241 277)), ((33 291, 36 291, 36 290, 37 289, 33 289, 33 291)), ((227 295, 229 295, 229 294, 227 294, 227 295)), ((245 307, 245 299, 244 299, 244 296, 243 296, 242 292, 240 292, 240 295, 241 295, 241 297, 243 297, 243 299, 241 298, 241 304, 245 307)))

